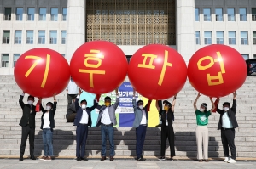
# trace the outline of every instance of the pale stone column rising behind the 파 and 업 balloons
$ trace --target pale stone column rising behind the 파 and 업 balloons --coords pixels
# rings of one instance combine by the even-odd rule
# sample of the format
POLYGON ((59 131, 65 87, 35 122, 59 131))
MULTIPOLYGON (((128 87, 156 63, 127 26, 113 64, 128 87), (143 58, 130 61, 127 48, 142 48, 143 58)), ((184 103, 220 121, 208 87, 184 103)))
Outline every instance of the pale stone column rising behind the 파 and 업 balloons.
POLYGON ((195 53, 195 0, 176 0, 177 51, 186 63, 195 53))

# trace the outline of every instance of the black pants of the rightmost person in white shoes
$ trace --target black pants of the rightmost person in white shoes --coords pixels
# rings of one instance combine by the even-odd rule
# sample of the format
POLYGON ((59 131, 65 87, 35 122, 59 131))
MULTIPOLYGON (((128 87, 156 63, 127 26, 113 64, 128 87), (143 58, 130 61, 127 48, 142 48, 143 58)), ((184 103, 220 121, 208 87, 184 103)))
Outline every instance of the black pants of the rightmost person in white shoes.
POLYGON ((229 157, 229 147, 231 151, 231 158, 236 160, 236 146, 235 146, 235 128, 224 130, 221 129, 221 141, 224 150, 224 156, 229 157))

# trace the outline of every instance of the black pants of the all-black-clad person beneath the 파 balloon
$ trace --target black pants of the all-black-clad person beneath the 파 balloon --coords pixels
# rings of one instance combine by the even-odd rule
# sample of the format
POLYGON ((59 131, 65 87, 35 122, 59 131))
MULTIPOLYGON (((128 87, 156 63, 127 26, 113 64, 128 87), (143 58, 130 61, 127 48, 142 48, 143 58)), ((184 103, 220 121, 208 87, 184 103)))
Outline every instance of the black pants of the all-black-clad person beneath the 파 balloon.
MULTIPOLYGON (((164 121, 166 122, 166 121, 164 121)), ((164 125, 164 124, 162 124, 164 125)), ((162 126, 161 127, 161 156, 165 156, 166 154, 166 139, 169 140, 170 150, 171 150, 171 157, 175 156, 175 149, 174 149, 174 132, 172 124, 169 126, 162 126)))

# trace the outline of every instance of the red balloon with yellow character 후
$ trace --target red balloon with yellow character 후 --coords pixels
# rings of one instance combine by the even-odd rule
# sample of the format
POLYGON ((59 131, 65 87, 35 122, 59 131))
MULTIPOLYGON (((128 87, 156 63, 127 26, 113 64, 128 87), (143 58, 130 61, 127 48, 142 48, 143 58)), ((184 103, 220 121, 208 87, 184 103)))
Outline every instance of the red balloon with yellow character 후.
POLYGON ((89 93, 109 93, 125 80, 128 62, 123 51, 107 41, 81 45, 70 61, 74 82, 89 93))

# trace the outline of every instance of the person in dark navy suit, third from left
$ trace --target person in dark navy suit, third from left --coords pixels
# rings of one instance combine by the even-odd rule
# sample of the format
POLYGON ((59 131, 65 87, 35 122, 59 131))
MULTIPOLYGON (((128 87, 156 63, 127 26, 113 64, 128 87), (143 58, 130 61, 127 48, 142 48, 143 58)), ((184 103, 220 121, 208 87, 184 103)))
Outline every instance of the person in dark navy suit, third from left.
POLYGON ((94 99, 94 104, 92 107, 87 107, 87 101, 85 99, 80 101, 79 105, 79 97, 81 95, 82 91, 79 89, 79 95, 77 96, 77 99, 75 101, 76 111, 77 115, 74 119, 73 125, 77 126, 76 134, 77 134, 77 148, 76 148, 76 156, 77 161, 87 161, 87 159, 84 157, 85 155, 85 145, 86 145, 86 139, 88 135, 88 127, 91 127, 91 116, 90 112, 96 108, 98 103, 96 102, 96 99, 94 99))

